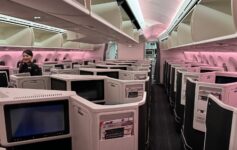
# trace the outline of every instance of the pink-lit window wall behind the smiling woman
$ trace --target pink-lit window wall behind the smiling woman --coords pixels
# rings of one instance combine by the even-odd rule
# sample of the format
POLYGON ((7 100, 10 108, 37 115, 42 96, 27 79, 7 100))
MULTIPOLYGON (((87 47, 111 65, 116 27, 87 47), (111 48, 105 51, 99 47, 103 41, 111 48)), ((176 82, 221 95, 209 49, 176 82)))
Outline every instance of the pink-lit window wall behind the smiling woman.
POLYGON ((4 61, 6 66, 15 68, 17 62, 22 59, 22 51, 25 49, 32 49, 34 53, 33 59, 36 59, 36 63, 41 65, 45 59, 48 61, 54 61, 56 58, 58 61, 62 61, 65 56, 70 60, 102 60, 104 45, 97 46, 93 51, 77 51, 75 49, 46 49, 46 48, 31 48, 31 47, 0 47, 0 61, 4 61))

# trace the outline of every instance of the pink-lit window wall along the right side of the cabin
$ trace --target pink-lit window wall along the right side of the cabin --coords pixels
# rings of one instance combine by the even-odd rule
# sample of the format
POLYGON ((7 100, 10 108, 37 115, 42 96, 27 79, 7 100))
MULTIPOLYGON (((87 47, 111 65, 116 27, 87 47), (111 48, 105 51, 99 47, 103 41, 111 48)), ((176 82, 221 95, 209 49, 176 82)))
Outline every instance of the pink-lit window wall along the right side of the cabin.
MULTIPOLYGON (((234 49, 234 47, 232 47, 234 49)), ((237 47, 235 47, 236 49, 237 47)), ((237 71, 237 51, 206 49, 174 49, 161 51, 160 81, 163 83, 163 64, 165 60, 195 61, 211 66, 223 67, 225 71, 237 71), (227 70, 226 70, 227 69, 227 70)))

